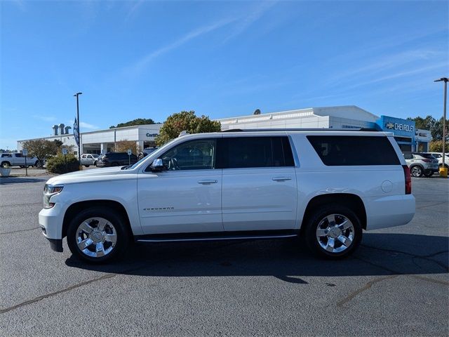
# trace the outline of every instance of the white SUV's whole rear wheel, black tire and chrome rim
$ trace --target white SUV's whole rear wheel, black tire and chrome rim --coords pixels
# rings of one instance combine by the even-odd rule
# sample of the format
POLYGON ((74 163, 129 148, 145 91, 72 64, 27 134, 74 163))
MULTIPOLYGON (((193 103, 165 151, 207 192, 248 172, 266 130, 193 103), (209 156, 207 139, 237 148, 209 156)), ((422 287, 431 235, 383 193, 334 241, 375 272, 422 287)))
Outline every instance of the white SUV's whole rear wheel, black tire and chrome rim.
POLYGON ((361 222, 346 206, 329 205, 316 209, 306 223, 309 249, 326 258, 345 258, 360 244, 361 222))

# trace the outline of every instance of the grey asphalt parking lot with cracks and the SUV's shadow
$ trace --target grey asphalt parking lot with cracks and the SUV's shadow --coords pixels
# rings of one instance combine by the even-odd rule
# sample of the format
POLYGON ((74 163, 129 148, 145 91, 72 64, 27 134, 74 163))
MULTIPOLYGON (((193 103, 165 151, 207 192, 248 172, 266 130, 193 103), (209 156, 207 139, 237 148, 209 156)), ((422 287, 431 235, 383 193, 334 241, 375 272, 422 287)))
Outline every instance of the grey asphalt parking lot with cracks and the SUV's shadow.
POLYGON ((1 336, 448 336, 448 179, 346 260, 295 240, 139 244, 112 265, 51 251, 48 177, 0 178, 1 336))

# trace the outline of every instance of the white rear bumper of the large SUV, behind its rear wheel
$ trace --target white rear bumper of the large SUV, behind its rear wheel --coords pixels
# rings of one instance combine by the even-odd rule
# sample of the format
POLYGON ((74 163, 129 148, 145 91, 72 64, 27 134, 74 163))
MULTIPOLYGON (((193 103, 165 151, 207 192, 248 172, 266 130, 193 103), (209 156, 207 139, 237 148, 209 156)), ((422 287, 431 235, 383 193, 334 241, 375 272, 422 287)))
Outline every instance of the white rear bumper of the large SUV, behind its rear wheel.
POLYGON ((415 216, 413 194, 373 197, 365 204, 367 230, 406 225, 415 216))

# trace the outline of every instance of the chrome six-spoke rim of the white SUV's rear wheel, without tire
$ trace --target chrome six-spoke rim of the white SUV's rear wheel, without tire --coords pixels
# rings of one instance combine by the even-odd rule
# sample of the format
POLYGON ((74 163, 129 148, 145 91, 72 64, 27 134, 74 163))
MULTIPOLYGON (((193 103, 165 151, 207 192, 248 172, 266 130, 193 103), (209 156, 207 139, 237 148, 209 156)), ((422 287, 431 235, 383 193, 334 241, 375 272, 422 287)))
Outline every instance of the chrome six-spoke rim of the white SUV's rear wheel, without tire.
POLYGON ((316 240, 329 253, 341 253, 354 241, 354 225, 346 216, 330 214, 316 227, 316 240))

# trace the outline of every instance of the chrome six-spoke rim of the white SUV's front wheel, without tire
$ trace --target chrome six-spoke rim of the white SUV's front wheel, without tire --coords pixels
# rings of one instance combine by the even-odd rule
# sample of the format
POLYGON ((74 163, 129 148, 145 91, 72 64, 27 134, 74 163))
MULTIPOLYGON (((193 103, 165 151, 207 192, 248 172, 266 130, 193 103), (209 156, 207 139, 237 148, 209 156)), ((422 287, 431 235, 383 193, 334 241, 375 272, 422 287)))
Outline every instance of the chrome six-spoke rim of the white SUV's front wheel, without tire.
POLYGON ((88 218, 76 229, 76 245, 86 256, 101 258, 114 250, 117 232, 105 218, 88 218))

